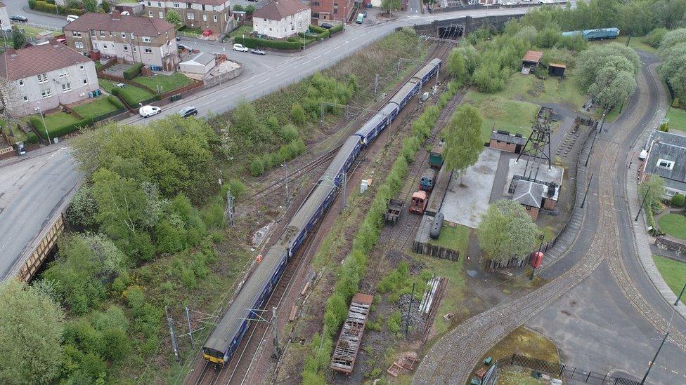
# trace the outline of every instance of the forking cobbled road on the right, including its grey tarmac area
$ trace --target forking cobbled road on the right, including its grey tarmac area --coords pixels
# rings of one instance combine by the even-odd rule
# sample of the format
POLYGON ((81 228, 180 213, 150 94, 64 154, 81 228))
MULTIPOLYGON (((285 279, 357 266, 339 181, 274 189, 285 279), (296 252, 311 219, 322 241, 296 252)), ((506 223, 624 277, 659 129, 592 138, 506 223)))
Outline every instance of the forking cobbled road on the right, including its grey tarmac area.
POLYGON ((581 219, 574 227, 574 241, 564 250, 556 250, 556 245, 547 256, 561 258, 543 272, 550 282, 455 327, 429 351, 415 374, 415 384, 465 383, 482 354, 525 324, 551 337, 565 364, 638 379, 669 329, 669 343, 648 381, 685 383, 686 321, 671 318, 671 305, 658 295, 638 264, 623 191, 628 149, 664 114, 666 98, 656 65, 642 59, 638 91, 624 114, 605 125, 585 170, 585 177, 595 173, 585 210, 578 207, 583 187, 577 191, 575 216, 581 219))

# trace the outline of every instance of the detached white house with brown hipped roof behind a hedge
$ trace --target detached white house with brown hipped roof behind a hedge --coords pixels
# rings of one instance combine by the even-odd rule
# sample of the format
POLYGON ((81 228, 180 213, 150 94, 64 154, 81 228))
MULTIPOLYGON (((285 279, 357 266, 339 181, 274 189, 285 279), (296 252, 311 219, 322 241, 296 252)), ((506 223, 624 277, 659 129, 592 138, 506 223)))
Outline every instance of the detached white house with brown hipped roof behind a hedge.
POLYGON ((299 0, 271 0, 252 14, 252 30, 272 39, 306 32, 312 11, 299 0))

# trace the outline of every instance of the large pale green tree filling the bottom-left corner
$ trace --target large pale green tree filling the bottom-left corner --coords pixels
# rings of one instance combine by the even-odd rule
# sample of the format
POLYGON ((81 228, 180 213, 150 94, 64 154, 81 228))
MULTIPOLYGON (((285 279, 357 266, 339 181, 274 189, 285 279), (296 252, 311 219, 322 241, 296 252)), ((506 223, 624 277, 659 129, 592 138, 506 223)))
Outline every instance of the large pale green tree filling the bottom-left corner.
POLYGON ((64 311, 36 288, 0 283, 0 382, 49 383, 59 372, 64 311))

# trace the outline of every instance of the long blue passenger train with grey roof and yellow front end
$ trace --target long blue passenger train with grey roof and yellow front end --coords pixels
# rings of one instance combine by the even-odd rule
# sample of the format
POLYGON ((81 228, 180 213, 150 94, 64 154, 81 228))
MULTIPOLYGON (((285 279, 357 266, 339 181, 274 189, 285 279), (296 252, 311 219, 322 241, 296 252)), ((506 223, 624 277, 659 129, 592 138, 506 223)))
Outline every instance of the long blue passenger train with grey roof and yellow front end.
POLYGON ((438 58, 429 61, 354 135, 345 140, 325 173, 283 229, 278 240, 266 251, 255 271, 245 281, 238 295, 205 341, 202 346, 202 355, 208 363, 224 365, 231 360, 250 327, 250 322, 257 319, 257 315, 250 309, 261 309, 266 304, 273 288, 276 287, 285 271, 286 265, 333 202, 344 174, 351 168, 360 152, 396 119, 408 102, 420 92, 422 86, 436 76, 441 64, 442 61, 438 58))

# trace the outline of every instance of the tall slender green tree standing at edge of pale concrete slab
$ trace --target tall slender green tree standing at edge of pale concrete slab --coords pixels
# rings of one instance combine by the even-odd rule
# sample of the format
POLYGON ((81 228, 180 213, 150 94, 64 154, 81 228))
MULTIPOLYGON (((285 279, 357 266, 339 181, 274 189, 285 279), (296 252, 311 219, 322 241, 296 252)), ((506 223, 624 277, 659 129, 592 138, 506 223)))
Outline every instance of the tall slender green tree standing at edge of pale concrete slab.
MULTIPOLYGON (((453 115, 446 132, 444 162, 446 170, 462 172, 479 160, 484 150, 481 142, 481 116, 471 104, 462 104, 453 115)), ((462 180, 460 179, 460 184, 462 180)))

